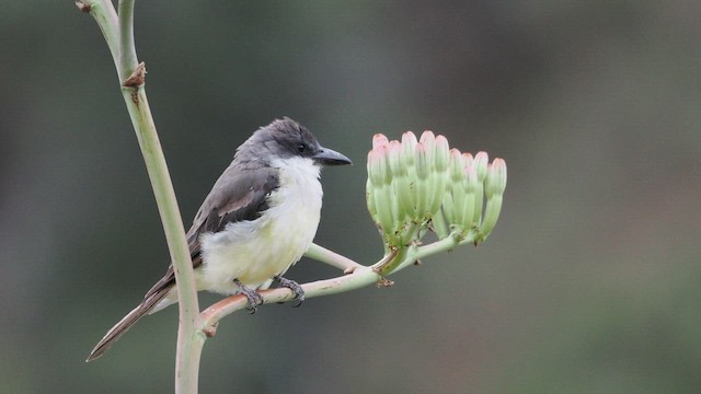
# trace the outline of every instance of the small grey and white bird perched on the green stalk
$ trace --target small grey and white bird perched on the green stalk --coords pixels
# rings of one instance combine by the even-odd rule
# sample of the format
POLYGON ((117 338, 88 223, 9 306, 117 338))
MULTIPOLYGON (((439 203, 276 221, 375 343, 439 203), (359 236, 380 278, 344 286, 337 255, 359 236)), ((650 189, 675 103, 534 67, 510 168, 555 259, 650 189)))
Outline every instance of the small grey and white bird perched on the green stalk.
MULTIPOLYGON (((321 216, 322 166, 352 164, 322 147, 304 126, 289 117, 254 131, 214 184, 186 233, 197 291, 241 293, 255 312, 256 290, 274 280, 304 293, 283 275, 311 245, 321 216)), ((131 312, 95 345, 87 362, 104 355, 137 321, 177 302, 175 275, 165 275, 131 312)))

